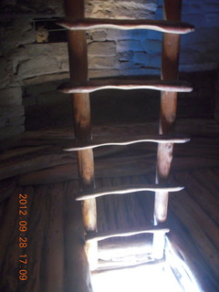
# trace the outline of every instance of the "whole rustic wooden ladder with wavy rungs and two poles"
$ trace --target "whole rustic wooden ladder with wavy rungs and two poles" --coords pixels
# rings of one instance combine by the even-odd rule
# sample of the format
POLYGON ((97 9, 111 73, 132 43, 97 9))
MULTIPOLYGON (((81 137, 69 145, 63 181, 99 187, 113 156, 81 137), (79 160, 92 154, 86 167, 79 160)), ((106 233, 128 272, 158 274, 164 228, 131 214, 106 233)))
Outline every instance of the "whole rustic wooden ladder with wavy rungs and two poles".
POLYGON ((77 151, 78 173, 82 191, 77 200, 82 201, 82 214, 85 227, 86 250, 90 270, 98 267, 98 241, 113 236, 153 234, 155 259, 163 257, 165 234, 169 229, 164 222, 167 218, 168 196, 170 192, 183 189, 169 183, 174 143, 189 141, 188 138, 172 134, 176 117, 177 92, 192 90, 187 82, 178 80, 180 35, 193 31, 193 26, 180 22, 181 0, 164 0, 165 20, 115 20, 91 19, 84 17, 83 0, 65 0, 66 18, 59 22, 68 29, 68 55, 70 81, 62 84, 59 90, 72 94, 74 112, 75 141, 66 151, 77 151), (95 28, 114 29, 151 29, 162 32, 162 78, 160 80, 95 79, 88 78, 88 54, 86 31, 95 28), (161 90, 160 132, 155 135, 141 136, 138 139, 120 141, 92 141, 89 93, 101 89, 154 89, 161 90), (95 188, 93 149, 105 145, 129 145, 136 142, 156 142, 157 174, 154 184, 123 185, 110 188, 95 188), (108 194, 151 191, 155 193, 154 224, 144 228, 99 233, 97 229, 96 198, 108 194))

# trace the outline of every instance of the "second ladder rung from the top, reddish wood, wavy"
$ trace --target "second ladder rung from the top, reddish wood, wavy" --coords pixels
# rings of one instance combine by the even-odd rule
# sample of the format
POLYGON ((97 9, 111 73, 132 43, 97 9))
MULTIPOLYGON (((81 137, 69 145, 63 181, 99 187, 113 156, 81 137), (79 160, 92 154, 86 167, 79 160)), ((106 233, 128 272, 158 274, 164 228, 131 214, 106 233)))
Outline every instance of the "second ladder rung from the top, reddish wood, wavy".
POLYGON ((186 81, 164 80, 129 80, 129 79, 95 79, 85 83, 61 84, 58 88, 63 93, 90 93, 102 89, 153 89, 160 91, 191 92, 192 86, 186 81))

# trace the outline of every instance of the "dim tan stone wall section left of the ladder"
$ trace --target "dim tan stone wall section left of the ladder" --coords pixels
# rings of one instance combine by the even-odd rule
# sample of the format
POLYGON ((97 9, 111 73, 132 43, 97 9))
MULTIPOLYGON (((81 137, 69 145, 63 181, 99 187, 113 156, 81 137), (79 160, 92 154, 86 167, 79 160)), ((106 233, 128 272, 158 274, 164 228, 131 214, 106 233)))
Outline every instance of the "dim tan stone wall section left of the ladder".
POLYGON ((27 6, 26 1, 3 0, 0 4, 0 139, 25 130, 26 83, 68 72, 66 44, 36 44, 33 19, 53 16, 64 16, 62 1, 35 0, 27 6))

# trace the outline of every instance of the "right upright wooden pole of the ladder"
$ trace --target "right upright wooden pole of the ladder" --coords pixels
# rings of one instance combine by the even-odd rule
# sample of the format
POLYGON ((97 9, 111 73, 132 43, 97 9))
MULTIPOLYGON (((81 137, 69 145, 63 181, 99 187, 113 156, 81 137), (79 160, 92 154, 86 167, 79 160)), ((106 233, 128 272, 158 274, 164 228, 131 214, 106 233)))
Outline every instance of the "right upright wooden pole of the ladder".
MULTIPOLYGON (((181 21, 182 0, 164 0, 163 11, 164 19, 169 21, 181 21)), ((176 80, 178 78, 180 55, 180 35, 163 34, 162 39, 162 79, 176 80)), ((162 91, 161 96, 161 116, 160 134, 168 134, 174 127, 177 107, 177 93, 162 91)), ((158 145, 157 153, 157 174, 156 183, 167 183, 171 170, 173 143, 158 145)), ((169 193, 155 193, 154 221, 155 224, 162 223, 167 218, 169 193)), ((158 235, 160 236, 160 235, 158 235)), ((162 236, 162 235, 161 235, 162 236)), ((154 245, 163 242, 163 238, 155 235, 154 245)), ((162 257, 162 251, 158 256, 162 257)))

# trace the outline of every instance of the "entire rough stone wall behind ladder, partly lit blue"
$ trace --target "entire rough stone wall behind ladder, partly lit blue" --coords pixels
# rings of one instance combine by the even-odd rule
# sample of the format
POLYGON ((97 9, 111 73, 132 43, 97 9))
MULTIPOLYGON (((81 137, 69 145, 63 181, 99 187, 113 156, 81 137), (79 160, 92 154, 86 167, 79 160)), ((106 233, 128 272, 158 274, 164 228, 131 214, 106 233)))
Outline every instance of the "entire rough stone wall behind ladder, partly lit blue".
MULTIPOLYGON (((5 137, 24 131, 24 105, 34 114, 33 109, 48 107, 53 95, 57 97, 49 89, 39 90, 36 98, 30 86, 68 78, 68 49, 65 42, 36 44, 33 25, 36 18, 64 16, 62 0, 34 0, 28 5, 25 0, 3 0, 0 8, 0 136, 5 137)), ((162 0, 86 0, 86 16, 162 19, 162 0)), ((196 31, 182 36, 181 71, 218 68, 218 1, 183 0, 182 18, 193 23, 196 31)), ((88 49, 90 78, 160 75, 162 33, 100 29, 89 32, 88 49)), ((68 98, 58 95, 57 99, 64 111, 68 98)))

